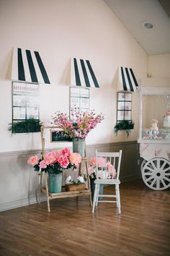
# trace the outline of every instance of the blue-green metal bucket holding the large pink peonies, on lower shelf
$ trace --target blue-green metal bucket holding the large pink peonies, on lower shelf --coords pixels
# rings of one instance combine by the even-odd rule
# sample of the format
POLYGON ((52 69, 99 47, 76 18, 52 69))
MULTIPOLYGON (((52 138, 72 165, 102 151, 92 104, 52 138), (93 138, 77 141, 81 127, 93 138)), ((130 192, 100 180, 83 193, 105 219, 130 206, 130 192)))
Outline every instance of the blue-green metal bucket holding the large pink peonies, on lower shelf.
POLYGON ((62 173, 48 174, 48 190, 50 193, 60 193, 62 187, 62 173))

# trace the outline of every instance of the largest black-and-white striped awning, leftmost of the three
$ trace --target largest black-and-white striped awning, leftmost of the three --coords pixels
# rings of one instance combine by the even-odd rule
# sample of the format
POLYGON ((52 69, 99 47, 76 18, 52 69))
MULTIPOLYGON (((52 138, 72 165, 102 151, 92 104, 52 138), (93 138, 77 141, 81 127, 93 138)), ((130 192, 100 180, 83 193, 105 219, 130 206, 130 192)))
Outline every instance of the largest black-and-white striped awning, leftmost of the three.
POLYGON ((50 84, 38 51, 14 48, 12 80, 50 84))

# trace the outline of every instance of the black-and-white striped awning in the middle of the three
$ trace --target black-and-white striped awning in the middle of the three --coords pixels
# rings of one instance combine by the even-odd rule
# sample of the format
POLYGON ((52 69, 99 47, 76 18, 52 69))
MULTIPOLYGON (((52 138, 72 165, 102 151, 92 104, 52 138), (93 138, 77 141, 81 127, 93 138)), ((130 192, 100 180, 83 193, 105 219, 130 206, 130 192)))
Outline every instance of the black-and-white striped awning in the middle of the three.
POLYGON ((90 61, 76 58, 71 59, 71 85, 99 88, 90 61))

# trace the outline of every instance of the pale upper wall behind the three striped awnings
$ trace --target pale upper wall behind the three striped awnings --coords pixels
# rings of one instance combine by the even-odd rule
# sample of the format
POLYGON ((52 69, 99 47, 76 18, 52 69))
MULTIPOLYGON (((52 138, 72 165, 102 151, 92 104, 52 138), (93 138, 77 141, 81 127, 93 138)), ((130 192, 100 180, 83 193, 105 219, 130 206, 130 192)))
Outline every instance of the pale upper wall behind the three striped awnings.
MULTIPOLYGON (((57 110, 68 112, 70 58, 89 59, 99 89, 90 91, 90 108, 105 119, 87 137, 87 144, 127 140, 115 137, 117 67, 132 67, 136 77, 146 77, 148 56, 102 0, 1 0, 0 1, 0 152, 38 149, 40 134, 13 135, 12 48, 40 52, 51 85, 40 85, 40 119, 50 121, 57 110)), ((138 95, 133 94, 135 129, 128 140, 138 137, 138 95)), ((48 148, 53 145, 48 144, 48 148)))

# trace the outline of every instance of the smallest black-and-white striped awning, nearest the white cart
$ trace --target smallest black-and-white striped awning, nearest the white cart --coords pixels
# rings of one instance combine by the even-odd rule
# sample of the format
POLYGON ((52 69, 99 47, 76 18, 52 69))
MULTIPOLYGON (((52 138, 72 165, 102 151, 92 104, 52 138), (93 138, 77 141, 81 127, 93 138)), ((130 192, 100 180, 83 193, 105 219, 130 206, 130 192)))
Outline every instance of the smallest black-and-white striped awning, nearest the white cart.
POLYGON ((138 82, 135 79, 133 69, 128 67, 119 68, 118 90, 136 92, 138 90, 138 82))

